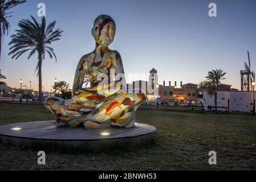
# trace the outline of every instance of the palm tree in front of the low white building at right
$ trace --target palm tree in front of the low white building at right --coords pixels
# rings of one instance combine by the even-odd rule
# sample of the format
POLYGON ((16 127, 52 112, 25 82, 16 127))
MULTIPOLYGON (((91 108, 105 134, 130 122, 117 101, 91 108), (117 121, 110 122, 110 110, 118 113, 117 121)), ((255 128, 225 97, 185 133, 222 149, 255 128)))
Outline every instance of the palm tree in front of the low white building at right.
POLYGON ((207 88, 208 94, 214 94, 214 107, 215 111, 217 111, 217 92, 220 87, 221 81, 226 79, 224 76, 226 72, 223 72, 222 69, 215 69, 208 72, 208 76, 206 76, 206 80, 202 81, 200 86, 201 88, 207 88))

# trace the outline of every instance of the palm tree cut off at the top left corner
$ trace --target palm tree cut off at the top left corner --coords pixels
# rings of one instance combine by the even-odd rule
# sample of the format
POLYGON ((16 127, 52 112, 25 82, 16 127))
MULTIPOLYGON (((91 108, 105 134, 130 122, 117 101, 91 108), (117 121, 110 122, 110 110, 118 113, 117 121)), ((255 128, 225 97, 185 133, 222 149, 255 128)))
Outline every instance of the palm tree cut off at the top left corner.
POLYGON ((13 7, 25 3, 26 1, 18 1, 18 0, 0 0, 0 60, 1 60, 1 50, 2 50, 2 35, 5 35, 5 32, 8 35, 8 30, 10 27, 10 23, 7 18, 11 17, 12 11, 9 11, 13 7))

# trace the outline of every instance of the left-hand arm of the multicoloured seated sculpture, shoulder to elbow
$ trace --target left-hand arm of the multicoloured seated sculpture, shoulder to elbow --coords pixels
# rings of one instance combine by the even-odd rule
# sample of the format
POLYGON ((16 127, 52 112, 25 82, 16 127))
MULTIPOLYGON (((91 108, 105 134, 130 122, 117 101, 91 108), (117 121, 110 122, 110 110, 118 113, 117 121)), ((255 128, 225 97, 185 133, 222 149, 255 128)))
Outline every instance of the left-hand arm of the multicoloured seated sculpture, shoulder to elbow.
POLYGON ((75 78, 72 88, 72 96, 78 95, 81 92, 83 82, 84 82, 84 76, 86 75, 86 72, 88 71, 88 65, 87 65, 87 55, 84 55, 76 67, 75 72, 75 78))

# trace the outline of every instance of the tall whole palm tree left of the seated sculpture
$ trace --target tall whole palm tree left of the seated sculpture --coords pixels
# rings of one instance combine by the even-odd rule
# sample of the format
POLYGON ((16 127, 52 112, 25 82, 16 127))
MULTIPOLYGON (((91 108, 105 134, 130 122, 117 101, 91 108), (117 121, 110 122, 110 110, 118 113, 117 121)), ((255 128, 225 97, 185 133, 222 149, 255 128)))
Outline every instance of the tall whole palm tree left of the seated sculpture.
POLYGON ((53 30, 56 21, 51 22, 46 26, 46 19, 43 17, 41 24, 36 22, 35 18, 31 16, 32 22, 29 19, 22 19, 18 26, 20 30, 15 30, 17 34, 11 36, 11 42, 9 55, 13 55, 11 58, 18 59, 23 53, 30 51, 27 59, 30 59, 34 53, 38 53, 38 63, 35 71, 38 71, 37 76, 39 77, 39 102, 43 101, 42 95, 42 61, 45 59, 46 53, 50 58, 55 57, 54 49, 49 47, 48 44, 60 40, 60 36, 63 31, 60 28, 53 30))

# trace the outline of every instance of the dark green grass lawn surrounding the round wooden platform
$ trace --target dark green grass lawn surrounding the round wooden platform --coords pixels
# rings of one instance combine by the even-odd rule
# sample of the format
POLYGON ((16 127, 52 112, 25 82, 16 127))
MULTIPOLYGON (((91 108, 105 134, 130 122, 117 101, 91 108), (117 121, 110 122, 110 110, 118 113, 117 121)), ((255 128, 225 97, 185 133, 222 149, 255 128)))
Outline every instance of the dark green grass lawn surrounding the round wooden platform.
MULTIPOLYGON (((156 127, 153 143, 102 152, 46 152, 46 165, 37 164, 37 151, 0 144, 0 170, 256 170, 256 117, 246 114, 197 114, 138 110, 137 122, 156 127), (217 165, 208 152, 217 152, 217 165)), ((0 104, 0 125, 54 119, 39 105, 0 104)), ((71 129, 72 130, 72 129, 71 129)))

